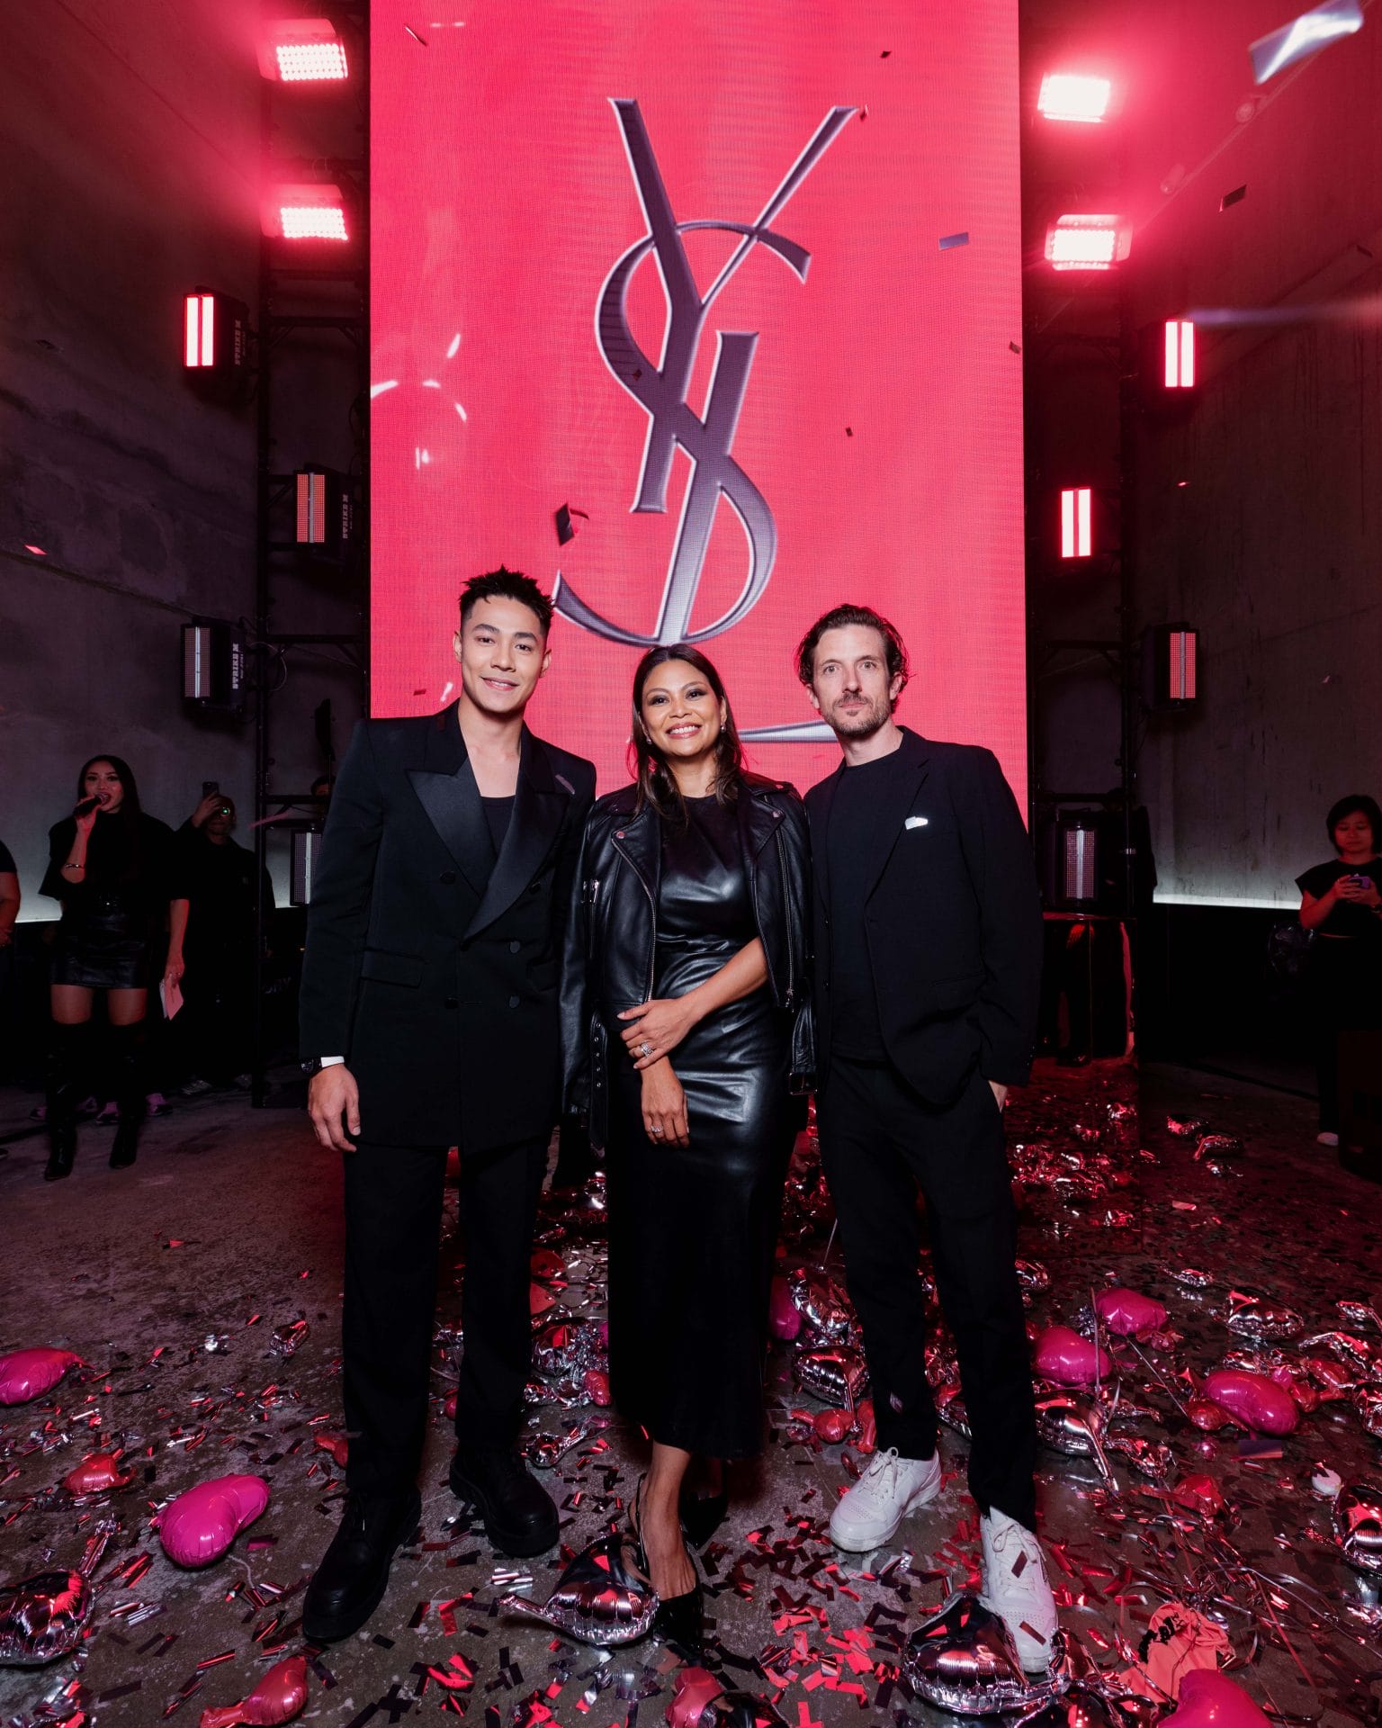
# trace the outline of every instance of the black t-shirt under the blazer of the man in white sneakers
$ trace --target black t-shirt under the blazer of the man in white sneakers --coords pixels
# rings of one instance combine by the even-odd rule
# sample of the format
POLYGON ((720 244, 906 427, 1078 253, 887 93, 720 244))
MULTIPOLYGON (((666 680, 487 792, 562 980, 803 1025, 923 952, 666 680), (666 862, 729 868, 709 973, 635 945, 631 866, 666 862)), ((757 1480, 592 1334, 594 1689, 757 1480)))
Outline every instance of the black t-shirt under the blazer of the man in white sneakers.
POLYGON ((836 781, 826 835, 831 893, 831 1051, 846 1061, 886 1061, 864 933, 872 888, 874 828, 897 781, 902 752, 846 767, 836 781))

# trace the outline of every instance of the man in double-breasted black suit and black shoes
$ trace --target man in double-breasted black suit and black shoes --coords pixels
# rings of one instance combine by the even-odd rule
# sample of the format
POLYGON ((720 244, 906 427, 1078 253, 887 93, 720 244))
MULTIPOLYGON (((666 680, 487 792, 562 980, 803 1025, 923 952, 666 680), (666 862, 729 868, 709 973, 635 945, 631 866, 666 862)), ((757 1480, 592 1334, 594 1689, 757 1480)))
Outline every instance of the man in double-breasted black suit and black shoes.
POLYGON ((347 1503, 304 1636, 378 1605, 420 1514, 446 1149, 460 1146, 465 1356, 451 1488, 504 1553, 556 1541, 515 1448, 529 1258, 560 1109, 558 957, 594 767, 534 738, 551 601, 525 575, 468 582, 461 693, 363 721, 313 885, 301 1047, 316 1137, 346 1154, 347 1503))

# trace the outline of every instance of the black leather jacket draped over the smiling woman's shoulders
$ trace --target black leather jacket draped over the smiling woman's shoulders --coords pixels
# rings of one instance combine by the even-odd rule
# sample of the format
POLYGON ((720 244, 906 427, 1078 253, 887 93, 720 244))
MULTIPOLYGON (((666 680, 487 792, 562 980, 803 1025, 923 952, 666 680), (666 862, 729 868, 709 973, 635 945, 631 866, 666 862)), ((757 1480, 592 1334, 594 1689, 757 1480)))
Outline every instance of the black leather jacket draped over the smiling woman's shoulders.
MULTIPOLYGON (((606 793, 591 810, 561 968, 563 1108, 589 1113, 591 1144, 605 1146, 608 1051, 618 1014, 653 992, 662 821, 636 814, 636 788, 606 793)), ((810 847, 791 786, 746 776, 739 786, 739 848, 764 943, 772 999, 791 1014, 791 1087, 808 1090, 815 1051, 810 1013, 807 900, 810 847)), ((615 1045, 622 1054, 622 1045, 615 1045)), ((672 1051, 672 1066, 677 1052, 672 1051)))

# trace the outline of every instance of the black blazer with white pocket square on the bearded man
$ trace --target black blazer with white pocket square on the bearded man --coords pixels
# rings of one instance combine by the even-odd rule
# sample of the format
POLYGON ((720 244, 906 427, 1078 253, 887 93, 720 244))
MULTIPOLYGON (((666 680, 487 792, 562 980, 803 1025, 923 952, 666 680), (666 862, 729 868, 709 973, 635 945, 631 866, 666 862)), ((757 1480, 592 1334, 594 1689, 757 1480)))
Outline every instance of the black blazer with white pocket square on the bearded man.
MULTIPOLYGON (((1017 802, 997 757, 902 729, 902 776, 876 823, 864 930, 883 1044, 933 1104, 978 1066, 1021 1085, 1031 1071, 1042 907, 1017 802), (910 821, 910 826, 909 826, 910 821)), ((815 866, 815 1020, 831 1052, 829 821, 845 764, 807 793, 815 866)))

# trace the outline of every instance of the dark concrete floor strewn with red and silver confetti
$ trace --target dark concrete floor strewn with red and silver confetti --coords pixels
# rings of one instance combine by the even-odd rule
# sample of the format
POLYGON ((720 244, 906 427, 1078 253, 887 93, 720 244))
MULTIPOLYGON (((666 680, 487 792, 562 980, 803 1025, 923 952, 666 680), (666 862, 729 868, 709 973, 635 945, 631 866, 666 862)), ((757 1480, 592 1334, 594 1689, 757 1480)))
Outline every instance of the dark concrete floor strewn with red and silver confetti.
MULTIPOLYGON (((2 1099, 0 1121, 22 1121, 29 1102, 2 1099)), ((1242 1664, 1235 1678, 1282 1719, 1375 1725, 1379 1591, 1337 1559, 1309 1476, 1316 1460, 1344 1477, 1377 1474, 1377 1443, 1347 1403, 1330 1403, 1304 1417, 1280 1458, 1244 1458, 1233 1429, 1208 1436, 1180 1417, 1187 1382, 1176 1375, 1202 1374, 1242 1346, 1218 1318, 1228 1286, 1290 1303, 1309 1332, 1342 1324, 1337 1298, 1375 1301, 1377 1191, 1315 1147, 1309 1104, 1176 1071, 1138 1083, 1121 1064, 1043 1068, 1014 1097, 1009 1134, 1024 1180, 1021 1253, 1050 1272, 1035 1320, 1073 1322, 1106 1282, 1164 1301, 1176 1336, 1147 1350, 1149 1365, 1118 1350, 1125 1396, 1154 1412, 1137 1433, 1170 1443, 1182 1472, 1213 1476, 1230 1507, 1218 1519, 1176 1509, 1118 1460, 1121 1491, 1111 1495, 1092 1464, 1043 1453, 1042 1534, 1064 1621, 1095 1662, 1119 1666, 1159 1604, 1192 1600, 1221 1617, 1242 1664), (1138 1102, 1138 1092, 1140 1137, 1109 1115, 1111 1102, 1138 1102), (1168 1113, 1209 1118, 1244 1140, 1244 1156, 1223 1159, 1218 1173, 1195 1163, 1195 1140, 1166 1134, 1168 1113), (1095 1175, 1104 1192, 1094 1191, 1095 1175), (1178 1282, 1185 1267, 1213 1284, 1178 1282), (1270 1593, 1254 1567, 1275 1579, 1270 1593)), ((150 1123, 128 1172, 105 1166, 109 1135, 83 1128, 76 1173, 60 1187, 41 1182, 40 1139, 12 1140, 0 1158, 0 1353, 55 1344, 93 1370, 3 1412, 0 1579, 76 1564, 90 1536, 109 1531, 85 1649, 45 1669, 0 1669, 0 1723, 10 1728, 193 1721, 244 1697, 266 1666, 302 1649, 301 1590, 339 1510, 340 1472, 314 1445, 340 1427, 335 1159, 299 1113, 254 1113, 238 1096, 150 1123), (114 1445, 136 1465, 135 1483, 73 1503, 62 1476, 114 1445), (269 1509, 226 1559, 178 1571, 150 1531, 154 1510, 228 1471, 268 1477, 269 1509)), ((791 1263, 819 1258, 827 1222, 803 1227, 793 1206, 788 1217, 791 1263)), ((558 1299, 598 1313, 598 1232, 577 1215, 553 1246, 567 1263, 558 1299)), ((456 1258, 453 1244, 442 1256, 442 1327, 460 1318, 456 1258)), ((670 1650, 646 1643, 605 1655, 498 1614, 506 1562, 446 1488, 449 1374, 442 1334, 420 1538, 399 1555, 370 1626, 313 1657, 302 1719, 358 1728, 463 1711, 484 1728, 662 1723, 677 1668, 670 1650), (473 1671, 465 1690, 428 1674, 454 1680, 454 1654, 473 1671)), ((860 1718, 905 1728, 936 1712, 895 1680, 900 1645, 948 1588, 976 1578, 966 1446, 945 1433, 940 1500, 903 1524, 888 1553, 848 1560, 822 1533, 855 1455, 843 1448, 841 1460, 841 1446, 822 1446, 795 1415, 815 1408, 791 1386, 786 1346, 776 1346, 772 1441, 738 1479, 731 1521, 705 1553, 715 1590, 707 1666, 777 1700, 791 1728, 860 1718)), ((534 1426, 558 1433, 593 1419, 601 1414, 541 1410, 534 1426)), ((639 1455, 612 1420, 546 1477, 568 1547, 620 1514, 639 1455)), ((556 1566, 534 1562, 530 1572, 541 1598, 556 1566)))

